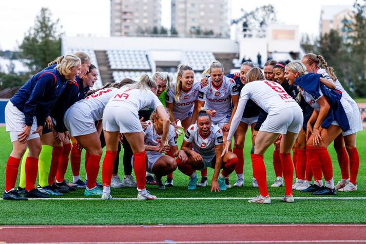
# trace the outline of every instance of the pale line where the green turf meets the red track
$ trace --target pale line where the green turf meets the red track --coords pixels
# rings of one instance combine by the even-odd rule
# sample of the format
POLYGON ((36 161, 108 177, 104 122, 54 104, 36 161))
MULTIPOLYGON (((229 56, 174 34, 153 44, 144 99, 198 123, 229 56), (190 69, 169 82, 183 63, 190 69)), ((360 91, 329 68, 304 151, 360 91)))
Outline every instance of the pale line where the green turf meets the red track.
POLYGON ((99 228, 119 228, 119 229, 133 229, 133 228, 235 228, 235 227, 366 227, 366 224, 346 224, 346 223, 283 223, 283 224, 217 224, 217 225, 53 225, 53 226, 0 226, 1 229, 73 229, 73 228, 87 228, 87 229, 99 229, 99 228))

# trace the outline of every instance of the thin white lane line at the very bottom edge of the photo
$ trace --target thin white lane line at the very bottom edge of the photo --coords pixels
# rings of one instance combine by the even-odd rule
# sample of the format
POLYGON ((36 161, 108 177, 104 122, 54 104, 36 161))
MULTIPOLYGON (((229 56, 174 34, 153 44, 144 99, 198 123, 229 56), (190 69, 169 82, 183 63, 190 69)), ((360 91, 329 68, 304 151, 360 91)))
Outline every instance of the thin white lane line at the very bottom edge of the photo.
MULTIPOLYGON (((215 244, 226 244, 226 243, 360 243, 366 242, 366 240, 210 240, 210 241, 174 241, 174 240, 165 240, 165 241, 123 241, 123 242, 27 242, 31 244, 36 243, 61 243, 61 244, 167 244, 167 243, 176 243, 176 244, 206 244, 206 243, 215 243, 215 244)), ((7 242, 12 243, 12 242, 7 242)), ((14 244, 19 242, 13 242, 14 244)))

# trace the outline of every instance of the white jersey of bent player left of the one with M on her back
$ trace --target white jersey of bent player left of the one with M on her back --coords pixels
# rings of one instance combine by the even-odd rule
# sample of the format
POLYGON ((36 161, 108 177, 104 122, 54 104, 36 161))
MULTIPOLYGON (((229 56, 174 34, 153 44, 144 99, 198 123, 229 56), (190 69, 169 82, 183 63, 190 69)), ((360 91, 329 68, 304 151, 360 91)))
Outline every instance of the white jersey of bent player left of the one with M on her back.
POLYGON ((118 88, 105 88, 99 90, 86 98, 76 102, 71 106, 82 109, 85 113, 91 115, 94 121, 101 120, 103 118, 103 111, 106 107, 109 99, 118 93, 118 88))

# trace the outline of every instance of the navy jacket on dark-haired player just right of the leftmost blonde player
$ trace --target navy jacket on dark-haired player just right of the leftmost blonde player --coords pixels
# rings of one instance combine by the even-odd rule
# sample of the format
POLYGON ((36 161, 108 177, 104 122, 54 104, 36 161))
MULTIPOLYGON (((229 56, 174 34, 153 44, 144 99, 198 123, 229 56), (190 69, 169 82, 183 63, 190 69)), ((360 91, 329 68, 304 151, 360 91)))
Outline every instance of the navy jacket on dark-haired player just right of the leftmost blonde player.
POLYGON ((89 89, 89 87, 84 88, 83 79, 80 79, 79 77, 76 77, 76 82, 72 82, 71 80, 67 82, 64 92, 57 99, 50 113, 51 117, 56 120, 55 130, 57 132, 66 131, 64 124, 64 115, 66 111, 76 103, 76 101, 84 99, 84 96, 89 89))

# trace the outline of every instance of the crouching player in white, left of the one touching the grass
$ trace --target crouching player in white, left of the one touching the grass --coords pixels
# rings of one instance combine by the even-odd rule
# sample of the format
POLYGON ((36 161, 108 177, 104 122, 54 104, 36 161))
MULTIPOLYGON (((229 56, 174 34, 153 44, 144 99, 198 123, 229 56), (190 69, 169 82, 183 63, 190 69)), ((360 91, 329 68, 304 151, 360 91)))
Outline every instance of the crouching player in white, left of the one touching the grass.
MULTIPOLYGON (((169 112, 167 111, 169 114, 169 112)), ((157 112, 153 112, 150 120, 145 122, 147 127, 144 129, 145 134, 145 150, 147 156, 146 171, 155 174, 159 189, 165 189, 161 180, 162 176, 169 175, 177 169, 177 161, 174 157, 178 157, 181 162, 187 161, 187 155, 183 150, 178 150, 177 137, 174 126, 170 125, 167 144, 162 148, 160 140, 163 134, 163 119, 157 112), (163 155, 163 152, 170 151, 174 157, 163 155)), ((133 166, 133 157, 132 157, 133 166)))

